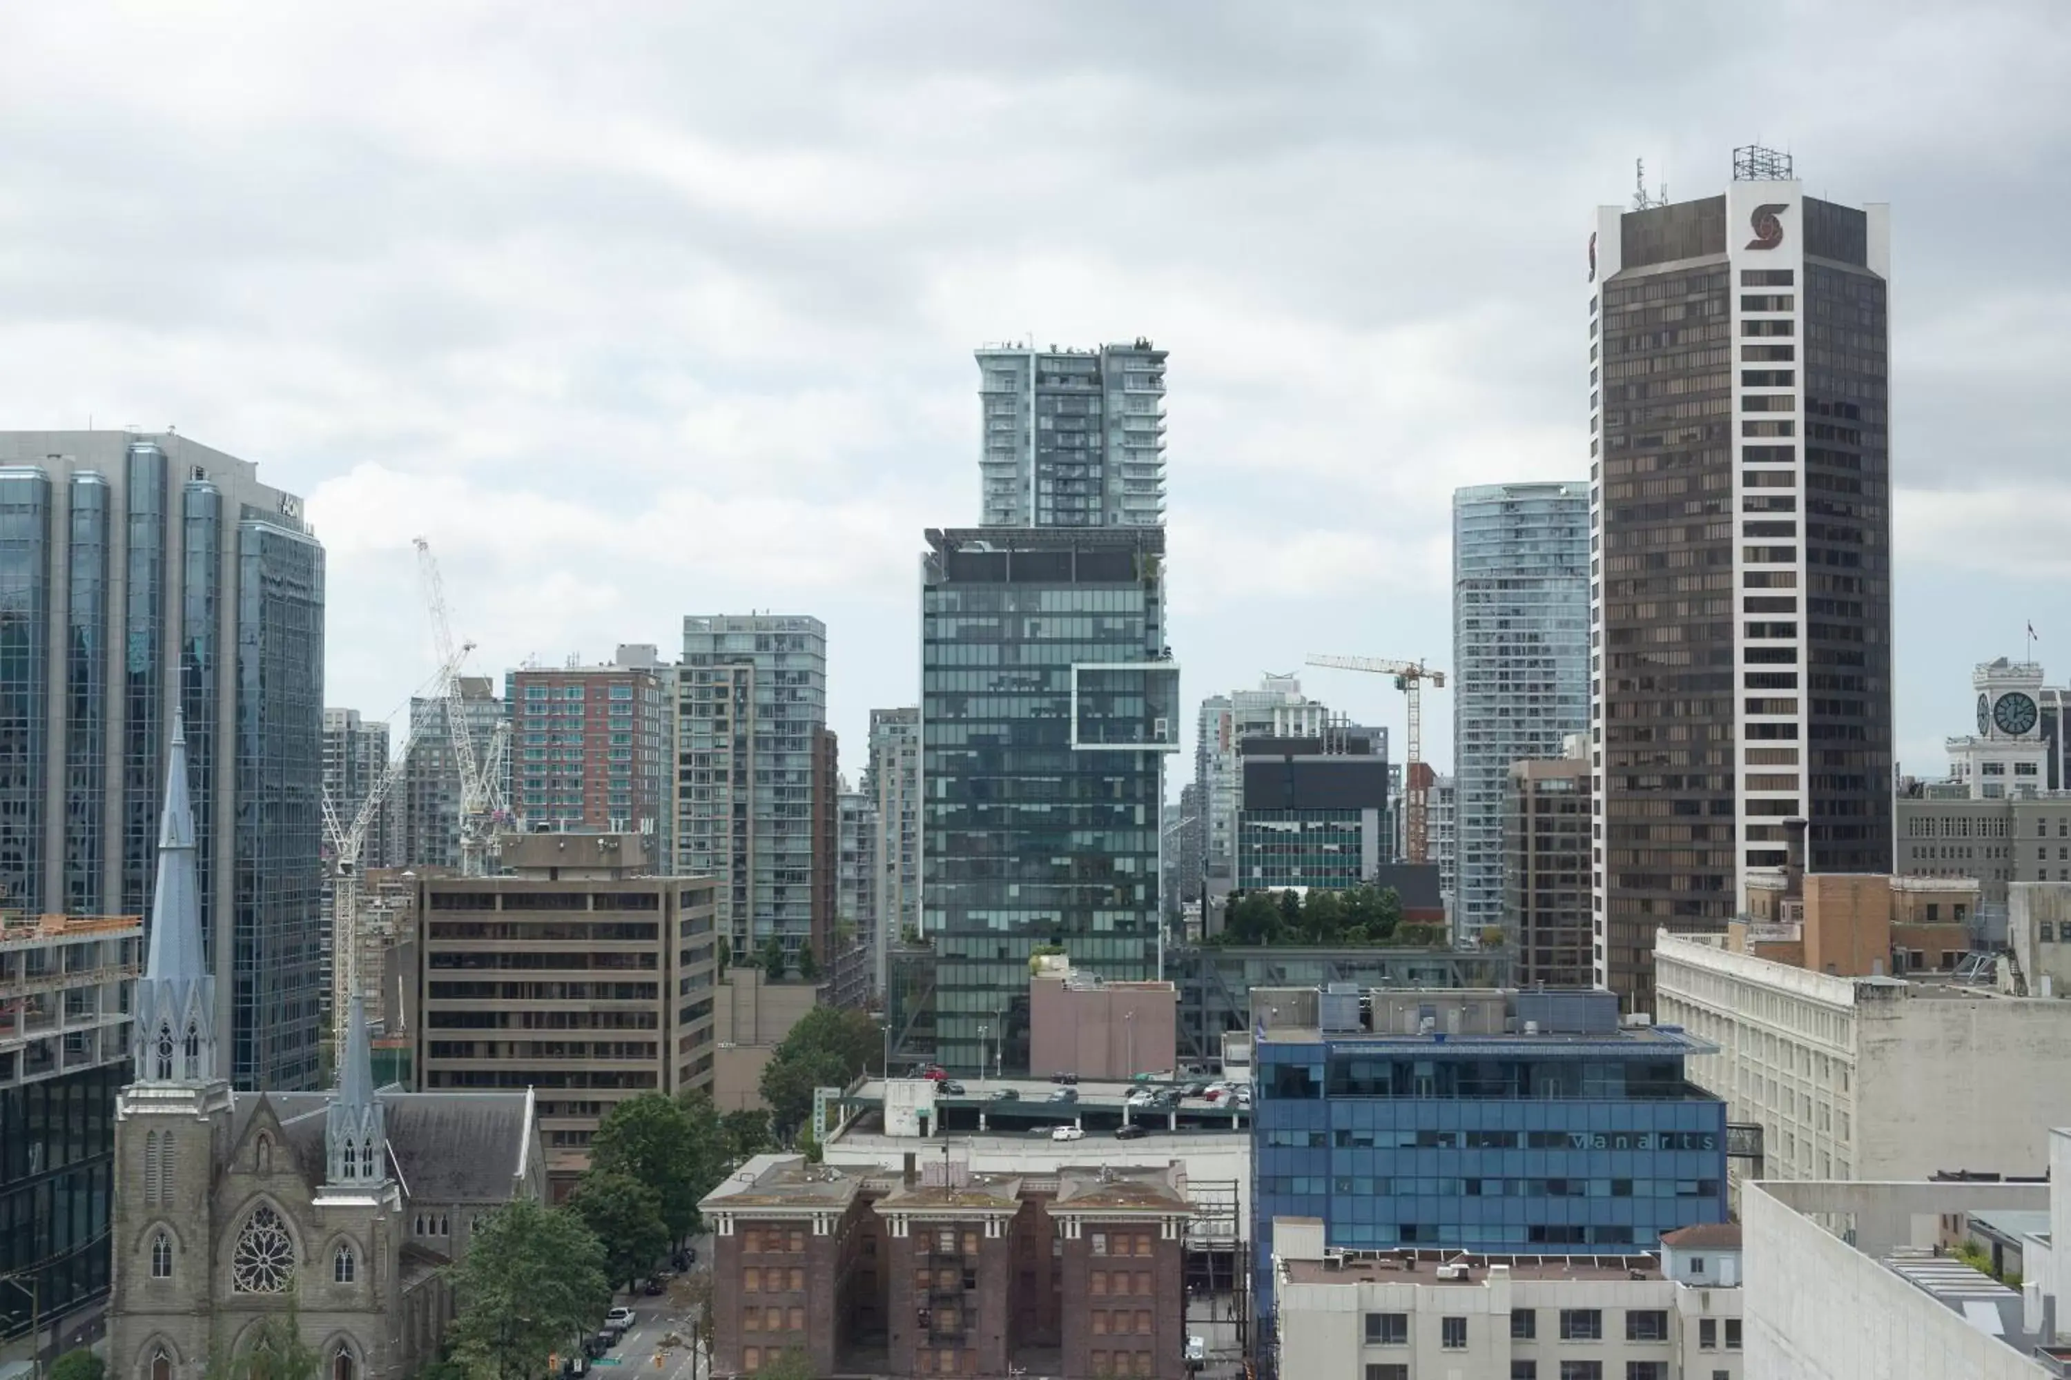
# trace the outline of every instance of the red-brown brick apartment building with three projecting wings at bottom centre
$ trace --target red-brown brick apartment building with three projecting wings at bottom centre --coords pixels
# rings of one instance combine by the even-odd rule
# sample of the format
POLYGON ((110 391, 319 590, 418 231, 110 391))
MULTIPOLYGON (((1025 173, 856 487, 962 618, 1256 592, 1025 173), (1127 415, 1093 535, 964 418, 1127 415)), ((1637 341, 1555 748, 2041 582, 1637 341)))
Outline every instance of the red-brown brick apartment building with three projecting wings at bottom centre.
POLYGON ((1185 1376, 1178 1163, 901 1175, 762 1154, 702 1206, 714 1376, 793 1349, 814 1374, 1185 1376))

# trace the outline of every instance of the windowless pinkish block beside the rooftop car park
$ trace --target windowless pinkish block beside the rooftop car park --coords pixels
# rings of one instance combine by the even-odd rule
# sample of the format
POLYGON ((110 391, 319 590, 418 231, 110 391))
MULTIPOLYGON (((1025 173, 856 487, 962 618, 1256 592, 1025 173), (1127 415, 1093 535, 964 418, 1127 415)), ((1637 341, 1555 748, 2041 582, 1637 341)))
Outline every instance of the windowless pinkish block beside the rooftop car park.
MULTIPOLYGON (((1127 1080, 1176 1068, 1178 989, 1172 983, 1106 983, 1093 972, 1075 972, 1062 958, 1040 964, 1029 979, 1029 1074, 1127 1080)), ((994 1030, 994 1063, 998 1037, 994 1030)))

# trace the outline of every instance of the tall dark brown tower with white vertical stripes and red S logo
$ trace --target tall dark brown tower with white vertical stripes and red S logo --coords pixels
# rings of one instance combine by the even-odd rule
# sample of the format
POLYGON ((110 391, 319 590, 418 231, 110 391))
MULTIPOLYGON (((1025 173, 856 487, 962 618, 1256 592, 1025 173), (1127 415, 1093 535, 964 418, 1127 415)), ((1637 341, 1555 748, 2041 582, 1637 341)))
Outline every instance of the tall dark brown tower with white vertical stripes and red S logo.
POLYGON ((1810 821, 1891 869, 1889 209, 1738 149, 1723 197, 1591 236, 1595 977, 1717 929, 1810 821))

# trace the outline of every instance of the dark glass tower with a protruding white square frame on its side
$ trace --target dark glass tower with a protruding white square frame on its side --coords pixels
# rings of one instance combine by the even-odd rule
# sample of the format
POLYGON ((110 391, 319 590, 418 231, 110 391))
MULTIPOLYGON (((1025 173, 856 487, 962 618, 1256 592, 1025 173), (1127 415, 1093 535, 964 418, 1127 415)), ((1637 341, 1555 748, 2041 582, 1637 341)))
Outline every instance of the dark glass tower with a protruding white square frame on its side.
MULTIPOLYGON (((1178 737, 1164 532, 930 530, 922 931, 936 1059, 1027 1070, 1029 954, 1158 977, 1164 753, 1178 737), (984 1026, 984 1034, 980 1028, 984 1026)), ((895 1018, 903 1018, 895 1012, 895 1018)))

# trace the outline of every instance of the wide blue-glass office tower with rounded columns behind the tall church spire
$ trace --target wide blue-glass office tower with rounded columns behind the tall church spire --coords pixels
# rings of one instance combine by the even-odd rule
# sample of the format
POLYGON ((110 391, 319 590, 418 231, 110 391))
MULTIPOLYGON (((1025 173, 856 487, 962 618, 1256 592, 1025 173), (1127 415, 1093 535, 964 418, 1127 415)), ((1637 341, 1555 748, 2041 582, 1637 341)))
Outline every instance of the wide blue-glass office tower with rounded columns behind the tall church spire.
POLYGON ((180 714, 242 1088, 321 1076, 323 548, 300 511, 184 437, 0 432, 0 904, 147 910, 180 714))

